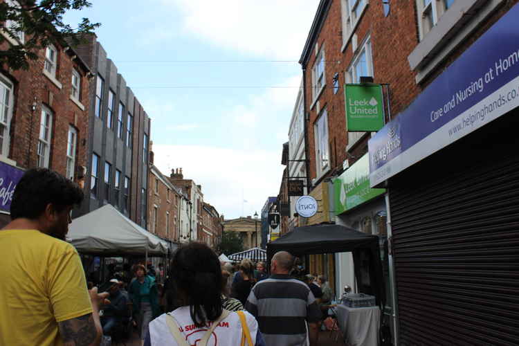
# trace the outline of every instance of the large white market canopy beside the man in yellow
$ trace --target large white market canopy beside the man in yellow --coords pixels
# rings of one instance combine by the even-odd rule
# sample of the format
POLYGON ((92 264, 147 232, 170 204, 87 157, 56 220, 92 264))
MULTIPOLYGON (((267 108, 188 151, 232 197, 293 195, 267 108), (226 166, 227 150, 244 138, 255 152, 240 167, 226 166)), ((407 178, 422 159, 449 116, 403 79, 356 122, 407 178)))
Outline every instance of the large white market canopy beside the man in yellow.
POLYGON ((170 248, 110 204, 73 219, 67 237, 78 252, 96 255, 167 255, 170 248))

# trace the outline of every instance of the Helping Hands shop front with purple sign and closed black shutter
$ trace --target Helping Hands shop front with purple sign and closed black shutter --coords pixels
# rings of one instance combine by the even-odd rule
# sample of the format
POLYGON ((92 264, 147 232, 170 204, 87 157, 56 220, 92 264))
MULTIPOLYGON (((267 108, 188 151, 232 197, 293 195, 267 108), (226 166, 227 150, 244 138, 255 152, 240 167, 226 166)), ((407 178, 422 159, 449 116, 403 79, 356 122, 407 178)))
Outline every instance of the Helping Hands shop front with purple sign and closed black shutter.
POLYGON ((397 345, 519 340, 519 6, 370 139, 397 345))

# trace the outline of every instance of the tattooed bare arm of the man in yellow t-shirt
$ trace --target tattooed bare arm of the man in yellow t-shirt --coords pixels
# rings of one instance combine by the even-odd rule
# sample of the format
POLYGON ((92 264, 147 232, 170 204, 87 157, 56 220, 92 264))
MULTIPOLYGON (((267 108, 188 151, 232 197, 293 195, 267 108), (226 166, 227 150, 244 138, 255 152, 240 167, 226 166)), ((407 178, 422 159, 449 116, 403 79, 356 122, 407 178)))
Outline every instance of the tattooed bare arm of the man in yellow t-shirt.
POLYGON ((102 331, 94 322, 92 313, 59 322, 64 346, 97 346, 102 331))

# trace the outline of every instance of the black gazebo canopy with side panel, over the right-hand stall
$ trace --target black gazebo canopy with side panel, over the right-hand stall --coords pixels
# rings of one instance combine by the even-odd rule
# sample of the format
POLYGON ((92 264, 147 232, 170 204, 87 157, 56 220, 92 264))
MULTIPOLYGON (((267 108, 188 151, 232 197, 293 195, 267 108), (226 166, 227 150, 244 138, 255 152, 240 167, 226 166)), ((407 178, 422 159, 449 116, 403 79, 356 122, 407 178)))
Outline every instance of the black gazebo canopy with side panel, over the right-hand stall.
POLYGON ((297 257, 352 252, 359 291, 375 295, 377 304, 385 303, 379 237, 376 235, 336 224, 302 226, 267 244, 269 264, 277 251, 288 251, 297 257))

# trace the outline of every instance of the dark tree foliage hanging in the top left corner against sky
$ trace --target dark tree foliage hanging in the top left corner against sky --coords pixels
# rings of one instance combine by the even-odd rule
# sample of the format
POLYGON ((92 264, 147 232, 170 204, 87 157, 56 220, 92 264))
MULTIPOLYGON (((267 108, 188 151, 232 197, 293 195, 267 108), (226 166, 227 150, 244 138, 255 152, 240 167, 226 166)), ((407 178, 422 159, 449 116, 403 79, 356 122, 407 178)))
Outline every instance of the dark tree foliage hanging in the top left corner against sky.
MULTIPOLYGON (((48 44, 77 45, 84 35, 100 26, 88 18, 83 18, 77 28, 64 23, 65 12, 90 7, 87 0, 17 0, 17 3, 15 6, 11 1, 0 3, 0 22, 5 24, 3 33, 19 43, 0 50, 0 64, 11 69, 28 69, 30 60, 37 60, 38 51, 48 44), (23 42, 18 39, 20 32, 24 33, 23 42)), ((6 37, 0 35, 0 44, 6 41, 6 37)))

